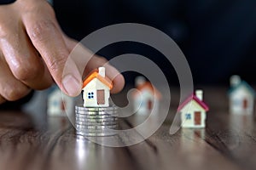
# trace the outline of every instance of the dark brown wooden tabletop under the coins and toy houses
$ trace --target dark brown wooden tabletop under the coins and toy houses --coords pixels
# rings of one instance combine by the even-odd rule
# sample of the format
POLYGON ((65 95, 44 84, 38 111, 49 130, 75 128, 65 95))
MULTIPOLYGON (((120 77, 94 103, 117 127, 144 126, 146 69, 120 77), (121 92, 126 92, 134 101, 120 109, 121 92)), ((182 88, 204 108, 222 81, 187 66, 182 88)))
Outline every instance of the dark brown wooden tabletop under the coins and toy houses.
MULTIPOLYGON (((256 169, 253 116, 229 113, 226 88, 205 88, 205 101, 207 128, 171 135, 170 111, 151 137, 117 148, 77 139, 65 117, 1 111, 0 169, 256 169)), ((119 123, 131 127, 132 120, 119 123)))

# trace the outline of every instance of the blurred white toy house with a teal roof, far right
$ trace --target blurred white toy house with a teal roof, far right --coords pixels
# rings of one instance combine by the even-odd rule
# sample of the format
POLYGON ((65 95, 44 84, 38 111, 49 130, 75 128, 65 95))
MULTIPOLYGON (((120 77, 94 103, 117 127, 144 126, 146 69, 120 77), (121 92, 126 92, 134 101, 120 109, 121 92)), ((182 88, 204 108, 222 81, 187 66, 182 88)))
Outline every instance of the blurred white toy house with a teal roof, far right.
POLYGON ((255 91, 239 76, 230 77, 230 112, 235 114, 252 114, 255 91))

